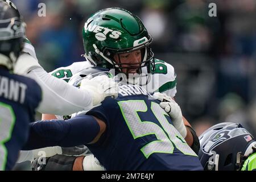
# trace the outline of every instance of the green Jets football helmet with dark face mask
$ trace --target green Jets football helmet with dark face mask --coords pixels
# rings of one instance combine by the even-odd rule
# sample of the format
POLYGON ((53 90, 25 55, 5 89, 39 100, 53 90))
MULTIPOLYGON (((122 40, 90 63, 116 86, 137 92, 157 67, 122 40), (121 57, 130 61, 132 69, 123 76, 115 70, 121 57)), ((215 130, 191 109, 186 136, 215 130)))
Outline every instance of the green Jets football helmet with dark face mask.
POLYGON ((138 16, 120 8, 109 8, 90 16, 82 30, 85 57, 97 67, 115 69, 147 68, 151 73, 155 68, 154 53, 150 44, 152 37, 148 34, 138 16), (114 55, 141 50, 141 63, 116 63, 114 55), (138 66, 139 65, 139 66, 138 66))

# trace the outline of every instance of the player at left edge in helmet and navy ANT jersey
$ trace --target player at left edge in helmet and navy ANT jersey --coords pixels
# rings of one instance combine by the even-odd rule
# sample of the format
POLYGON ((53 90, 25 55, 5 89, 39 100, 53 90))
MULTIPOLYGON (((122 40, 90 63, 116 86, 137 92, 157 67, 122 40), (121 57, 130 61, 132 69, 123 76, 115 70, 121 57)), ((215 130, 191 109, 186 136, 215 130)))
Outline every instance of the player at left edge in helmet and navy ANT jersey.
POLYGON ((28 137, 28 123, 42 99, 31 78, 13 74, 25 26, 15 5, 0 1, 0 171, 11 170, 28 137))

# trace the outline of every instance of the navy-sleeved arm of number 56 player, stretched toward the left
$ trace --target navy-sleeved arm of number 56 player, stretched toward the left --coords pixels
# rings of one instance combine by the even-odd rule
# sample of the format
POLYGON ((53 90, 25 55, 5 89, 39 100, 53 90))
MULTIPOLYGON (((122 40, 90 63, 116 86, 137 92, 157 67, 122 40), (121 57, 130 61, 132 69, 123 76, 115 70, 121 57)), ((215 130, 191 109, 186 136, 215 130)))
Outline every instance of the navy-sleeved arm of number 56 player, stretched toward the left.
POLYGON ((92 142, 100 132, 100 125, 90 115, 67 121, 39 121, 30 124, 28 141, 23 150, 61 146, 72 147, 92 142))

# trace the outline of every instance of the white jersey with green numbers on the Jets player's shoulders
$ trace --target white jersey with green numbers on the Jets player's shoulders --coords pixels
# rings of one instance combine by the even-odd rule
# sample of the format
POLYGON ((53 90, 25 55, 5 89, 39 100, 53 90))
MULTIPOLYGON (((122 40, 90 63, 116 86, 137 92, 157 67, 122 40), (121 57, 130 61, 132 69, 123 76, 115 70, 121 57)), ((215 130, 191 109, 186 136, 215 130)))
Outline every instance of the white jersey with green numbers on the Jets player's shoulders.
MULTIPOLYGON (((77 72, 90 67, 93 67, 93 65, 89 61, 75 62, 68 67, 57 68, 50 72, 50 74, 68 82, 77 72)), ((142 72, 146 74, 147 71, 142 69, 142 72)), ((149 93, 162 92, 170 97, 175 97, 177 92, 176 74, 171 64, 155 59, 154 74, 150 75, 150 78, 147 78, 147 80, 147 86, 145 87, 149 93)))

